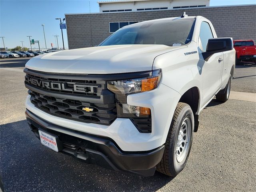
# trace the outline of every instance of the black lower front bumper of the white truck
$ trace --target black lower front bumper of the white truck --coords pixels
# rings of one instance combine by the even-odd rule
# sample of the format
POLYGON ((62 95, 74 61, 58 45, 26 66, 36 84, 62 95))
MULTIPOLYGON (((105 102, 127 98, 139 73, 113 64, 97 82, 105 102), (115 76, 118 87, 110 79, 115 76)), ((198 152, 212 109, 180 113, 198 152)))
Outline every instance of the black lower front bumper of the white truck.
POLYGON ((164 153, 164 145, 150 151, 124 152, 110 138, 86 134, 52 124, 29 110, 26 110, 26 118, 32 132, 38 138, 38 128, 57 135, 62 142, 62 153, 74 155, 88 164, 96 164, 108 169, 122 170, 141 176, 152 176, 164 153))

